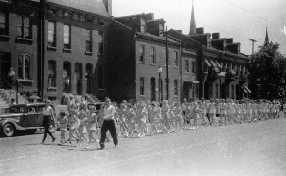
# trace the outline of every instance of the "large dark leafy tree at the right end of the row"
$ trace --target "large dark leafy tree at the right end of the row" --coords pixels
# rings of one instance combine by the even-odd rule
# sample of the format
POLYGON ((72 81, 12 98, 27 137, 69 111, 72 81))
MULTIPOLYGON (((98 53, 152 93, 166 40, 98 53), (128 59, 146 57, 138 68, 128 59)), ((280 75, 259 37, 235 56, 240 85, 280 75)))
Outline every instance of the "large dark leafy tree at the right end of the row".
POLYGON ((278 49, 277 42, 264 43, 253 55, 249 69, 252 90, 256 92, 253 98, 285 98, 286 57, 278 49))

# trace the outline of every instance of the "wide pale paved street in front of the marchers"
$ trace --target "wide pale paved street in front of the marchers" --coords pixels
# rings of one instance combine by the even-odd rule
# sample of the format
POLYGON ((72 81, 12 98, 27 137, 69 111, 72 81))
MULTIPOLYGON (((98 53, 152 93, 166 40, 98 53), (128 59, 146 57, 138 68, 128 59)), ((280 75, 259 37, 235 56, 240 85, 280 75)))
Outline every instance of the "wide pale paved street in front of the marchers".
MULTIPOLYGON (((0 138, 0 175, 286 175, 286 118, 233 126, 199 126, 142 138, 118 148, 40 145, 43 133, 0 138)), ((66 133, 66 136, 67 133, 66 133)))

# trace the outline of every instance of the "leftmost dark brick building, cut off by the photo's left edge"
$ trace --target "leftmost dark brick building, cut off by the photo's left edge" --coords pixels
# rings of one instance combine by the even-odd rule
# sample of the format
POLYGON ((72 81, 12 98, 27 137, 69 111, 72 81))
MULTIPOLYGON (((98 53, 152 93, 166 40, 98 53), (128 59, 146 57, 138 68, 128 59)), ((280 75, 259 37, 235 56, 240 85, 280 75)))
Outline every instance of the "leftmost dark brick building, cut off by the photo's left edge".
POLYGON ((7 83, 11 67, 19 92, 27 96, 38 94, 40 20, 38 0, 0 0, 1 88, 12 88, 7 83))

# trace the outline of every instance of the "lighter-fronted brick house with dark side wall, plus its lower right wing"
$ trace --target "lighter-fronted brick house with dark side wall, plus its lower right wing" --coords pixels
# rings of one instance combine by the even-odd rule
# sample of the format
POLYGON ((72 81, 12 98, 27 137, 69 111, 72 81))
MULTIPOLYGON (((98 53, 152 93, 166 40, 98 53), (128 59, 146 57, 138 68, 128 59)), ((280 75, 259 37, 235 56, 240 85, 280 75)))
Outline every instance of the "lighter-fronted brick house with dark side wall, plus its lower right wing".
MULTIPOLYGON (((110 27, 113 32, 109 35, 109 50, 113 52, 110 53, 108 67, 112 72, 109 76, 112 99, 160 100, 159 92, 161 100, 167 98, 164 23, 163 19, 154 19, 152 13, 114 17, 110 27), (162 68, 161 81, 159 67, 162 68)), ((191 78, 194 70, 190 64, 194 62, 196 52, 182 50, 176 39, 167 40, 169 98, 180 101, 182 80, 195 80, 191 78), (186 68, 183 75, 182 64, 186 68)))

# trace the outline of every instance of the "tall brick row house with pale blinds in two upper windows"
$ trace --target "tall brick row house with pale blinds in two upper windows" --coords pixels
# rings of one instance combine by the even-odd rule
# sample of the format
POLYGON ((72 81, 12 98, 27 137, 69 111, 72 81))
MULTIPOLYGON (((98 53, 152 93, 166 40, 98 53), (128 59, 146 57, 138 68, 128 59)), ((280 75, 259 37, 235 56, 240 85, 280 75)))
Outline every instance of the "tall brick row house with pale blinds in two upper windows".
POLYGON ((47 0, 45 6, 43 97, 61 100, 65 92, 107 96, 106 39, 111 0, 47 0))

